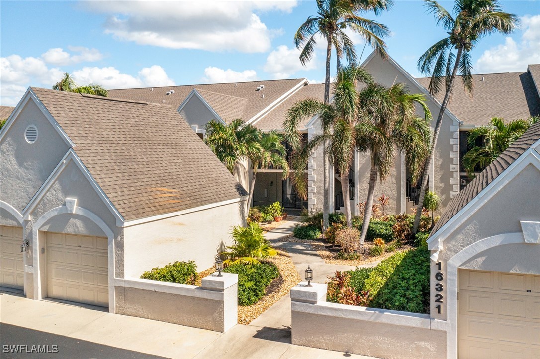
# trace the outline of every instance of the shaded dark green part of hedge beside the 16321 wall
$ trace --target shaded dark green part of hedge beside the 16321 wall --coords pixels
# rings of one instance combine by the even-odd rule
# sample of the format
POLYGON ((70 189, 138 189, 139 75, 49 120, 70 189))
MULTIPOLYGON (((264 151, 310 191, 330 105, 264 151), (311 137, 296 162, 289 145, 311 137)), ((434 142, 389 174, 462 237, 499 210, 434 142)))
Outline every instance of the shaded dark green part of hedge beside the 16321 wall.
MULTIPOLYGON (((394 256, 397 256, 397 254, 394 254, 394 256)), ((368 288, 368 285, 366 285, 366 288, 368 288)), ((373 305, 378 308, 428 314, 428 249, 416 248, 407 252, 403 256, 401 263, 394 267, 393 273, 373 298, 373 305)))

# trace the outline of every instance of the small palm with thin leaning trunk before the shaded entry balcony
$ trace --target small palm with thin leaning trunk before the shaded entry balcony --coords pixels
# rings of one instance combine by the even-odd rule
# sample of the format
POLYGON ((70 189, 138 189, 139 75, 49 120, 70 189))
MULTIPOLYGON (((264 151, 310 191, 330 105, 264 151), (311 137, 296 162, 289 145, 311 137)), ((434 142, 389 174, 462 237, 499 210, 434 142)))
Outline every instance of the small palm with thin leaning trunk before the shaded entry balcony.
POLYGON ((253 190, 255 189, 255 178, 257 178, 258 169, 282 169, 283 178, 289 175, 289 164, 286 159, 286 150, 283 145, 283 135, 272 130, 267 133, 261 133, 259 140, 259 150, 248 155, 252 163, 252 181, 251 190, 249 190, 248 206, 253 198, 253 190))

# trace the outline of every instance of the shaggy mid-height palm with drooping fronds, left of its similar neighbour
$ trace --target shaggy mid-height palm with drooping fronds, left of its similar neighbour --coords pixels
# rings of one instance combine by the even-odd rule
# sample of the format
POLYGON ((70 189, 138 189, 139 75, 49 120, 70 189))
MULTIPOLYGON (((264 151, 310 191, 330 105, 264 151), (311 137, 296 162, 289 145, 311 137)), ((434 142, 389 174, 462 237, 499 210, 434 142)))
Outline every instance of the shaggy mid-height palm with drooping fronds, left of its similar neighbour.
MULTIPOLYGON (((285 138, 294 149, 293 182, 299 195, 307 197, 305 170, 309 157, 323 143, 329 144, 328 158, 338 169, 343 198, 349 198, 349 168, 354 158, 354 151, 362 146, 356 141, 358 94, 356 83, 361 81, 372 84, 373 78, 361 67, 346 66, 338 71, 333 88, 334 100, 325 103, 315 99, 296 102, 287 112, 284 121, 285 138), (298 125, 308 118, 318 115, 322 123, 322 133, 302 142, 298 125)), ((350 202, 344 201, 347 226, 351 227, 350 202)))

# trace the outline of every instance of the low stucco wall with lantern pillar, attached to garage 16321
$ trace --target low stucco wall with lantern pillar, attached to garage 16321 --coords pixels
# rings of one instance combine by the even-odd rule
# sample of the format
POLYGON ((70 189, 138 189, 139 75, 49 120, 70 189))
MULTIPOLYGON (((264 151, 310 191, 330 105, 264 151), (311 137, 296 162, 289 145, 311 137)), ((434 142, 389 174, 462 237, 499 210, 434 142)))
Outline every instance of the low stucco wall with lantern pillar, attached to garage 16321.
POLYGON ((292 343, 382 358, 446 357, 443 324, 426 314, 327 303, 326 285, 291 291, 292 343))

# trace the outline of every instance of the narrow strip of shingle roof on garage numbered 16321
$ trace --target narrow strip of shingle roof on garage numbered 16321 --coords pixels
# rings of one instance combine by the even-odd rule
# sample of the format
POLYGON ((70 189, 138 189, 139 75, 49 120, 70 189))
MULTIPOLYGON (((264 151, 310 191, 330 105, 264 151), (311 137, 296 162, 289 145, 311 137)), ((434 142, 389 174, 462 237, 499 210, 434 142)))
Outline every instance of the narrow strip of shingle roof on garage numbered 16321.
POLYGON ((540 122, 532 125, 519 139, 511 144, 495 161, 485 168, 467 187, 465 187, 456 197, 454 197, 444 210, 441 218, 438 220, 434 229, 430 233, 430 237, 435 234, 441 227, 446 224, 452 217, 463 209, 474 197, 476 197, 483 189, 497 178, 498 175, 507 169, 514 161, 517 160, 525 151, 531 147, 533 143, 540 139, 540 122))

